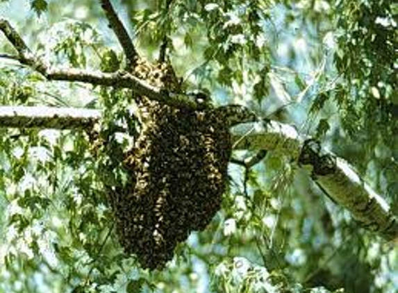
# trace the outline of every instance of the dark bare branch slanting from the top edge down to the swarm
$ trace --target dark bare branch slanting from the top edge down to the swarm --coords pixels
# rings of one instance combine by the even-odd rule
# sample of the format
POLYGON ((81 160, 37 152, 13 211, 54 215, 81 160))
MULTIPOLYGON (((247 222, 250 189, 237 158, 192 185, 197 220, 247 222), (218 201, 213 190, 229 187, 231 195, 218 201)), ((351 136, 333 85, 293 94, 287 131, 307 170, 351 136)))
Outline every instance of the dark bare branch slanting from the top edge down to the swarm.
POLYGON ((117 16, 115 9, 109 0, 99 0, 101 2, 101 7, 105 12, 106 18, 108 19, 109 26, 115 32, 117 40, 119 40, 120 45, 124 51, 124 55, 127 60, 127 68, 132 68, 135 62, 138 60, 138 52, 135 50, 133 40, 128 35, 126 28, 122 24, 122 21, 117 16))

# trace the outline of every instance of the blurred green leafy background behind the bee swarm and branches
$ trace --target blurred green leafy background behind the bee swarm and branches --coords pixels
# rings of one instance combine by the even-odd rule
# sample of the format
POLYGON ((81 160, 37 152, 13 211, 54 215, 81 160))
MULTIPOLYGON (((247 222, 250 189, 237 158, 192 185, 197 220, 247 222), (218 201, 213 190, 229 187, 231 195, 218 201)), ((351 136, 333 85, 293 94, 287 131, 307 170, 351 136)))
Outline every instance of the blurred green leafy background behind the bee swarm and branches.
MULTIPOLYGON (((164 96, 117 74, 135 52, 115 22, 107 27, 112 16, 101 4, 108 1, 3 2, 1 17, 34 55, 1 38, 1 104, 98 108, 117 156, 126 140, 115 128, 138 125, 131 90, 164 96), (65 72, 51 75, 53 67, 65 72), (101 74, 76 79, 81 72, 67 68, 101 74), (85 83, 49 81, 57 79, 85 83)), ((216 106, 239 103, 295 125, 349 160, 397 214, 395 4, 131 2, 113 4, 134 49, 171 62, 184 92, 206 89, 216 106)), ((195 105, 184 95, 162 101, 195 105)), ((248 163, 254 151, 235 151, 222 210, 177 247, 166 269, 148 271, 122 252, 113 228, 103 174, 112 184, 122 179, 101 167, 119 166, 93 158, 84 131, 1 128, 0 137, 4 292, 397 290, 397 249, 360 229, 283 149, 256 165, 248 163)))

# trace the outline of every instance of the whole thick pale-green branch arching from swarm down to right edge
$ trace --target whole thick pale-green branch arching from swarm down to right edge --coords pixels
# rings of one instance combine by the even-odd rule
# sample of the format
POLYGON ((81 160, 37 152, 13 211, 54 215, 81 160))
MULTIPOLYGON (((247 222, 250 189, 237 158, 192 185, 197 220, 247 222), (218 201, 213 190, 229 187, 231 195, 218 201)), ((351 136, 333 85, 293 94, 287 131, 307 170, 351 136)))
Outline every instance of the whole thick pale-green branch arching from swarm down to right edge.
POLYGON ((235 149, 279 151, 311 169, 311 178, 358 223, 386 240, 398 239, 398 221, 388 203, 367 185, 348 162, 324 152, 290 125, 256 122, 232 128, 235 149))

